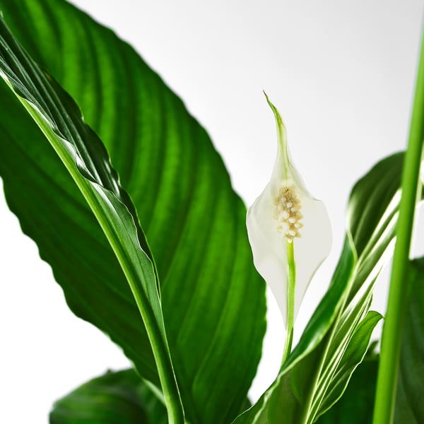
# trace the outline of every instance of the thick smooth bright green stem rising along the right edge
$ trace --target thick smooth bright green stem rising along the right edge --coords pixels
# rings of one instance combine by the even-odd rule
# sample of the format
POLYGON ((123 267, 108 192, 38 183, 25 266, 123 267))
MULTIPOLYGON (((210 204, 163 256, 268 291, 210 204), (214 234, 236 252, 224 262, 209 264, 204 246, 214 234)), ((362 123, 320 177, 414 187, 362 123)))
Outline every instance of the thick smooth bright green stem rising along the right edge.
POLYGON ((373 424, 390 424, 393 422, 394 417, 402 329, 406 308, 408 307, 405 286, 406 270, 411 248, 413 215, 416 208, 423 138, 424 42, 422 40, 408 148, 402 172, 402 196, 396 228, 396 245, 391 269, 389 300, 383 326, 373 424))

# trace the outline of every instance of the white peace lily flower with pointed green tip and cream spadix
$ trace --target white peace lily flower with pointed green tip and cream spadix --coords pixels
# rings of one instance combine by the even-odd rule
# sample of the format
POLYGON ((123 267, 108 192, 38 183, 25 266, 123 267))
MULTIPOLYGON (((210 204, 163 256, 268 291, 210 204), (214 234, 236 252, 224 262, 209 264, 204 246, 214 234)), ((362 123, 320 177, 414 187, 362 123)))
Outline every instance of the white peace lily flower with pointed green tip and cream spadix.
POLYGON ((271 181, 247 211, 247 232, 254 265, 271 287, 287 326, 290 254, 295 262, 293 325, 312 276, 330 252, 331 225, 323 202, 309 194, 295 170, 283 120, 266 100, 276 117, 277 158, 271 181))

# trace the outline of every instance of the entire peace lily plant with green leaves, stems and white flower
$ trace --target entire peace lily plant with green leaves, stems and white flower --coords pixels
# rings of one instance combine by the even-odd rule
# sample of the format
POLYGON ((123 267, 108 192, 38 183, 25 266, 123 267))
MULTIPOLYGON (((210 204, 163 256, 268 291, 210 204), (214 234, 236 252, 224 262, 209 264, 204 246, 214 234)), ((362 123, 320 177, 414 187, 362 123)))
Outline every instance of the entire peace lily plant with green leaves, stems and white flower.
POLYGON ((71 310, 133 364, 56 401, 51 423, 424 422, 424 259, 408 257, 423 189, 423 53, 406 153, 355 183, 334 276, 292 348, 331 229, 271 102, 276 164, 246 230, 206 131, 134 49, 63 0, 0 0, 0 10, 8 205, 71 310), (395 238, 379 353, 371 337, 382 314, 370 303, 395 238), (276 379, 252 404, 264 280, 287 336, 276 379))

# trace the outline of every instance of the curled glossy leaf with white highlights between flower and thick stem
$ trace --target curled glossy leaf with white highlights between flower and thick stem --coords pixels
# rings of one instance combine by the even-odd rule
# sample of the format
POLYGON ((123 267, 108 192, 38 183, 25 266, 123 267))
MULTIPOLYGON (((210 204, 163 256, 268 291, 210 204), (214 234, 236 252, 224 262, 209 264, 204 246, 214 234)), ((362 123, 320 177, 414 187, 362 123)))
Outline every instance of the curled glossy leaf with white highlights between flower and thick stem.
POLYGON ((402 160, 401 153, 382 160, 353 187, 346 242, 329 290, 276 381, 235 423, 313 423, 343 394, 379 318, 366 314, 391 253, 402 160))

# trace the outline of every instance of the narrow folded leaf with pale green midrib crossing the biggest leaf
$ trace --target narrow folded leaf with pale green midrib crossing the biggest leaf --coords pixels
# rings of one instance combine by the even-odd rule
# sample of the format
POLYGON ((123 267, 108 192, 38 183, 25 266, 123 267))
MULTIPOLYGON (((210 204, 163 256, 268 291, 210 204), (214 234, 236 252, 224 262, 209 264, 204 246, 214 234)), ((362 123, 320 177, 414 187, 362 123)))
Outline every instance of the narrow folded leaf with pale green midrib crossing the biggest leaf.
POLYGON ((105 147, 75 102, 42 72, 0 20, 0 76, 41 129, 83 194, 119 261, 153 348, 170 423, 184 413, 170 358, 153 258, 105 147))

